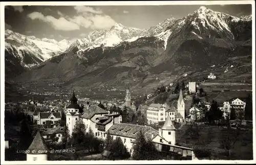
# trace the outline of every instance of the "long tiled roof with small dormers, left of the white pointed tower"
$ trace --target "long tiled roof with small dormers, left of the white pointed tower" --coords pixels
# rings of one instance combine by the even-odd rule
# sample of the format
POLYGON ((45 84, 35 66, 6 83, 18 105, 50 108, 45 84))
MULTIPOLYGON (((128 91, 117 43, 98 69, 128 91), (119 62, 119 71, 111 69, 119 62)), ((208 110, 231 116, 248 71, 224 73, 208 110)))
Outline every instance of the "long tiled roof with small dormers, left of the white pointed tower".
POLYGON ((136 139, 140 130, 142 130, 142 133, 145 135, 145 139, 151 139, 152 134, 158 134, 158 131, 152 127, 126 123, 115 123, 109 129, 110 134, 112 135, 124 136, 132 139, 136 139))

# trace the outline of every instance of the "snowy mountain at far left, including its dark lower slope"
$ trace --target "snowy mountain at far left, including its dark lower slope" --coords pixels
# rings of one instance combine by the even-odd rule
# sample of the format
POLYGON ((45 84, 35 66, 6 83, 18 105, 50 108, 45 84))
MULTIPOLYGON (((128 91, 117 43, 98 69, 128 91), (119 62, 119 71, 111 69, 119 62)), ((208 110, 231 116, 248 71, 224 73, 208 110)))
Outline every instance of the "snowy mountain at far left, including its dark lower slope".
POLYGON ((7 76, 22 73, 41 62, 64 52, 71 43, 67 40, 38 39, 5 31, 5 61, 7 76))

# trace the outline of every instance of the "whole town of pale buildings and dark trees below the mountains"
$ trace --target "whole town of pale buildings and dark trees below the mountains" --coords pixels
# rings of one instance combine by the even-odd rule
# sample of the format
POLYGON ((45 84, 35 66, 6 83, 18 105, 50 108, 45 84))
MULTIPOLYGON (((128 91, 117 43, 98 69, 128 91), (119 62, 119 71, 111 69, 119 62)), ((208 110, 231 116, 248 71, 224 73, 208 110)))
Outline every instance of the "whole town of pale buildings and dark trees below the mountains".
MULTIPOLYGON (((168 88, 158 89, 161 90, 168 88)), ((130 88, 125 90, 124 100, 79 98, 73 91, 67 94, 68 100, 32 98, 8 102, 5 105, 6 159, 229 159, 238 154, 239 141, 243 146, 252 143, 251 96, 223 100, 223 103, 207 102, 199 97, 205 92, 196 82, 176 86, 173 93, 178 96, 176 105, 151 103, 151 95, 145 95, 144 102, 135 103, 130 88), (188 98, 192 99, 191 103, 188 98), (214 150, 216 146, 209 147, 212 143, 219 145, 218 152, 214 150)))

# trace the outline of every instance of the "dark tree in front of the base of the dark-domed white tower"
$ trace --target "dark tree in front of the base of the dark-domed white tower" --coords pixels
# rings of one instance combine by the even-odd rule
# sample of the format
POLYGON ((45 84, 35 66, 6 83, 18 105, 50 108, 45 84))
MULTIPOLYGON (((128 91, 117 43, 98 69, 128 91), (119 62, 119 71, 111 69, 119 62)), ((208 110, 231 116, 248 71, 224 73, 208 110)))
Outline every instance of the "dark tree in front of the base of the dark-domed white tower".
POLYGON ((81 118, 76 121, 75 127, 72 132, 72 145, 85 146, 86 140, 86 127, 81 118))

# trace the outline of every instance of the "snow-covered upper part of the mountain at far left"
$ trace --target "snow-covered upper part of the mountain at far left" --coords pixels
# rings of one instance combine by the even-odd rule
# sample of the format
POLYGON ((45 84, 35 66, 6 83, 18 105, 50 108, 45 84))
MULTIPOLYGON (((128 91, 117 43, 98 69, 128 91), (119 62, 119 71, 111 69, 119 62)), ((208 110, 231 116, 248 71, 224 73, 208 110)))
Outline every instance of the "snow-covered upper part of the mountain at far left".
POLYGON ((67 40, 58 42, 54 39, 25 36, 11 30, 5 31, 6 51, 19 59, 22 66, 28 68, 64 52, 69 45, 67 40))

